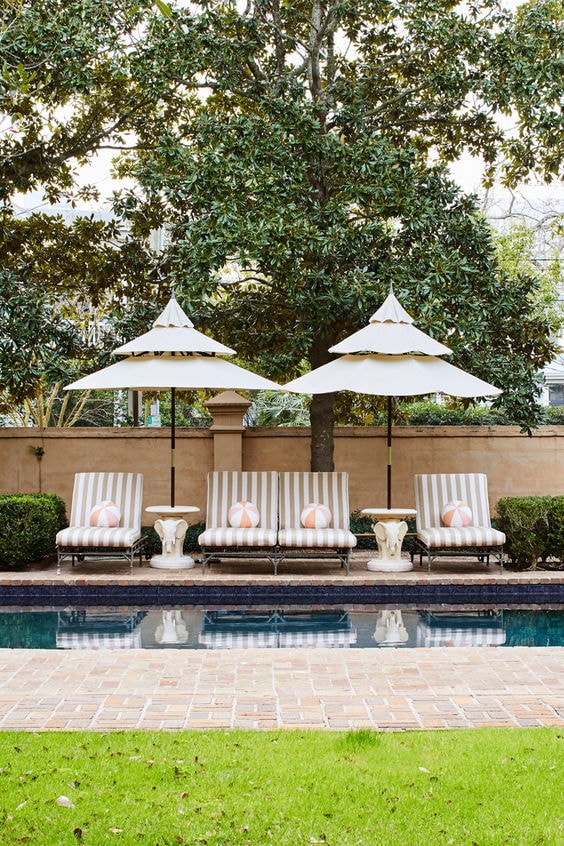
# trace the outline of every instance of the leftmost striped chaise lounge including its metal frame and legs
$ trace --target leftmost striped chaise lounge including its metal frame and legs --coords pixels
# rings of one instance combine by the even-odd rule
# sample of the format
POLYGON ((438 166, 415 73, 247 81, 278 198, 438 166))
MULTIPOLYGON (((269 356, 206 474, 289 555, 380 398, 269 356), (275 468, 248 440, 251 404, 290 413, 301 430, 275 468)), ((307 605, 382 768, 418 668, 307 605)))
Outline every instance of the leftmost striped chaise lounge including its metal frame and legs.
POLYGON ((140 473, 76 473, 72 494, 70 526, 57 533, 57 573, 61 563, 70 558, 125 558, 133 572, 133 561, 139 555, 139 566, 146 539, 141 535, 143 476, 140 473), (120 512, 115 528, 93 525, 96 506, 111 502, 120 512))

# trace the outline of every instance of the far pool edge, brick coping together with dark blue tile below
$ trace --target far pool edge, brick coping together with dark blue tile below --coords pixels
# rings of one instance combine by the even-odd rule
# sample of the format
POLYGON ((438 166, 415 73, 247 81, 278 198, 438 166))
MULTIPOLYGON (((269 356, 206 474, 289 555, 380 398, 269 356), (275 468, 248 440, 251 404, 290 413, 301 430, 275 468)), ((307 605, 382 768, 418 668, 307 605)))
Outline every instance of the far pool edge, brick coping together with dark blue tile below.
POLYGON ((543 608, 564 605, 564 570, 514 572, 476 559, 441 559, 402 573, 369 571, 373 552, 358 550, 350 573, 339 566, 293 562, 279 572, 254 561, 189 570, 147 565, 130 574, 123 562, 65 566, 47 559, 24 572, 0 572, 0 607, 105 605, 494 605, 543 608))

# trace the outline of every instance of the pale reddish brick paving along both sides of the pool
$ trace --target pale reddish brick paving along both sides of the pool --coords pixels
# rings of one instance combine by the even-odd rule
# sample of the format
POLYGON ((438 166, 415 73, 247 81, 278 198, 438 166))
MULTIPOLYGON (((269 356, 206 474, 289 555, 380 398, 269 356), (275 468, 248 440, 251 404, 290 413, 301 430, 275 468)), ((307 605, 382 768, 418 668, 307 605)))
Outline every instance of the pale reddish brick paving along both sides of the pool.
MULTIPOLYGON (((373 553, 371 553, 373 554, 373 553)), ((499 573, 444 561, 428 575, 326 563, 289 566, 274 577, 261 564, 189 571, 84 564, 57 576, 53 565, 0 573, 10 586, 140 589, 216 584, 322 586, 552 585, 564 573, 499 573)), ((558 588, 557 588, 558 589, 558 588)), ((5 603, 4 603, 5 605, 5 603)), ((6 607, 4 610, 7 610, 6 607)), ((564 648, 0 650, 0 729, 329 729, 385 731, 564 725, 564 648)))

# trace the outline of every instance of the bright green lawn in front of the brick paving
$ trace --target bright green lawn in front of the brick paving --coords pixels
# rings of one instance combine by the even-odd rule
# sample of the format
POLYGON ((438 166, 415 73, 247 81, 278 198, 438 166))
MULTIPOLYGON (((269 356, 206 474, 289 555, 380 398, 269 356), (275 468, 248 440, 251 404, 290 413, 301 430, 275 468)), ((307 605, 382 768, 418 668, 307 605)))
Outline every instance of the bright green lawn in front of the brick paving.
POLYGON ((561 846, 563 741, 564 728, 3 732, 0 842, 561 846))

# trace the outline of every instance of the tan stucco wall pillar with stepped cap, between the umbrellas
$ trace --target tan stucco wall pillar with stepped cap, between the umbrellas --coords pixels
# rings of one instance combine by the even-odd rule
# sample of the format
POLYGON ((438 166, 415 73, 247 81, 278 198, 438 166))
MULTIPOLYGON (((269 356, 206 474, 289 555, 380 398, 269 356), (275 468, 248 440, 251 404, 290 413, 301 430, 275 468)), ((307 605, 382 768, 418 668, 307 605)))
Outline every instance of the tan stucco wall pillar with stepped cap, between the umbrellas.
POLYGON ((235 391, 223 391, 204 403, 213 416, 213 469, 243 469, 243 418, 251 403, 235 391))

